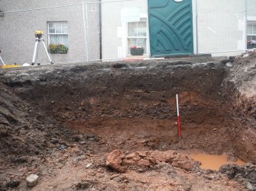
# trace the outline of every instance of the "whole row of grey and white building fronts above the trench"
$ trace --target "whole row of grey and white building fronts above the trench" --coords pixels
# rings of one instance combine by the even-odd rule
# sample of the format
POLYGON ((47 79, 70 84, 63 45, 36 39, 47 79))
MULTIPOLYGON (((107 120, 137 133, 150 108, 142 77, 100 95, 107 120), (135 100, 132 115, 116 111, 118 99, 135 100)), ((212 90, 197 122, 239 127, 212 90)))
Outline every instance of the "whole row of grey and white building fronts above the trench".
MULTIPOLYGON (((255 0, 1 0, 0 49, 7 63, 30 63, 43 30, 53 62, 232 56, 255 47, 255 10, 255 0)), ((43 46, 38 59, 48 62, 43 46)))

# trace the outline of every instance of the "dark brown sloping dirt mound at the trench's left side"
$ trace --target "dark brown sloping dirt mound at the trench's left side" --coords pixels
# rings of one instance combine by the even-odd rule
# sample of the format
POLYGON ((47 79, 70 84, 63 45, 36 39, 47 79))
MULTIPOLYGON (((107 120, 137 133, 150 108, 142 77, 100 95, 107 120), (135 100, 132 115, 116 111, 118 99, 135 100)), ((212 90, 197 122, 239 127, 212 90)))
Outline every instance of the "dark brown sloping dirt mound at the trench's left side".
POLYGON ((40 173, 44 158, 60 150, 59 142, 70 144, 73 133, 44 111, 21 100, 11 88, 2 83, 0 88, 0 190, 5 190, 17 187, 29 173, 17 173, 17 169, 32 167, 40 173))

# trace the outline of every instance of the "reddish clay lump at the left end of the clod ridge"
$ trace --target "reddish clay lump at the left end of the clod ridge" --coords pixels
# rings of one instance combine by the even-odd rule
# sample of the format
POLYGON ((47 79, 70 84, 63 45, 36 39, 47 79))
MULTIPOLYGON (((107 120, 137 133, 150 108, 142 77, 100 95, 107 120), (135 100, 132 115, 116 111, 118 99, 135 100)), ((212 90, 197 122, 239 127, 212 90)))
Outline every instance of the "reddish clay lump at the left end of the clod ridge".
POLYGON ((112 170, 117 171, 118 173, 125 173, 126 168, 122 167, 122 160, 125 158, 125 154, 120 150, 115 150, 109 153, 106 160, 106 165, 110 167, 112 170))

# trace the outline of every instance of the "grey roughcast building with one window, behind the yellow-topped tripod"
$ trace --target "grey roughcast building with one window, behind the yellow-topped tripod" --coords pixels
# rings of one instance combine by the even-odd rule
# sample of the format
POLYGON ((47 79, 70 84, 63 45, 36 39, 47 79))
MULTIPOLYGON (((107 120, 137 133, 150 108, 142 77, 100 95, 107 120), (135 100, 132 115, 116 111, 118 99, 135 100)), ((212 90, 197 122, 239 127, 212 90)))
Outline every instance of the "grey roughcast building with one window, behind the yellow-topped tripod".
MULTIPOLYGON (((31 63, 35 30, 44 31, 44 40, 53 62, 99 59, 99 8, 94 5, 83 9, 82 2, 0 0, 0 11, 10 12, 0 15, 2 59, 8 64, 31 63), (84 26, 95 32, 87 33, 88 28, 84 26)), ((39 47, 38 60, 48 62, 43 45, 39 47)))

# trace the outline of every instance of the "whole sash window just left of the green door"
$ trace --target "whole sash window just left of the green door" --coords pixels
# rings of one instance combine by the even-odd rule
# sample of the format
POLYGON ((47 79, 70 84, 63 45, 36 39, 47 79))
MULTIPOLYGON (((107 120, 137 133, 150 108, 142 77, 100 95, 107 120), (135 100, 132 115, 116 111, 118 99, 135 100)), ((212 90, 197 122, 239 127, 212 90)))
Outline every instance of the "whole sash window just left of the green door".
POLYGON ((133 46, 144 48, 147 54, 147 18, 141 18, 138 22, 128 22, 128 54, 133 46))

